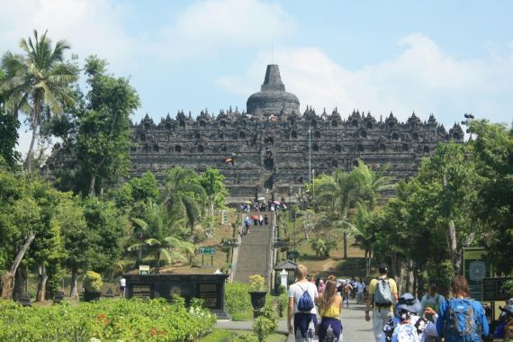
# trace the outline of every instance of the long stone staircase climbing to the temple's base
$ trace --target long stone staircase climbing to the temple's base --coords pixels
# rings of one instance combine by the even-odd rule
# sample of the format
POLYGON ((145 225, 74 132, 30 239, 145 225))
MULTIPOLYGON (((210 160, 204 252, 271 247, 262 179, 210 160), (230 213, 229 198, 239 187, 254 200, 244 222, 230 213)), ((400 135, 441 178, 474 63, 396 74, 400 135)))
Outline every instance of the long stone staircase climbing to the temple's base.
MULTIPOLYGON (((247 216, 264 216, 264 212, 249 212, 247 216)), ((249 233, 242 238, 242 243, 238 247, 238 260, 235 268, 235 281, 247 283, 249 275, 262 275, 266 278, 266 284, 269 284, 271 258, 271 235, 273 232, 274 214, 266 211, 269 216, 269 224, 257 226, 252 224, 249 233)), ((246 215, 244 215, 245 217, 246 215)))

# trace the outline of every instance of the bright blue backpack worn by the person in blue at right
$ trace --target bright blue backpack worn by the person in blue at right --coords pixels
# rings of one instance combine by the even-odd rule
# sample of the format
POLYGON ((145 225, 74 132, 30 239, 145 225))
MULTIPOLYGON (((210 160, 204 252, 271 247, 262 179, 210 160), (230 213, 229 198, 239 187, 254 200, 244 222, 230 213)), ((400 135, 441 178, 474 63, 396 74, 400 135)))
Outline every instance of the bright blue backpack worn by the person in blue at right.
POLYGON ((473 300, 466 298, 449 301, 446 317, 444 317, 446 341, 482 341, 482 327, 476 320, 472 304, 473 300))

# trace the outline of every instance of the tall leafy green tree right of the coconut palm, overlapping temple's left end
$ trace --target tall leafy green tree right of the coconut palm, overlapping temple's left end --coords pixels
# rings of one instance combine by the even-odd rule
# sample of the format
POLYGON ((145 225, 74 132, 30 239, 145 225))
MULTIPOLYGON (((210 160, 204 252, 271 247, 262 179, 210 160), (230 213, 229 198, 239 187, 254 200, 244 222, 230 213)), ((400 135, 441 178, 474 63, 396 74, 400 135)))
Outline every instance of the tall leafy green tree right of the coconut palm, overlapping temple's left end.
POLYGON ((85 59, 91 89, 84 110, 76 113, 76 157, 88 179, 89 196, 103 183, 115 183, 128 172, 130 115, 139 107, 139 95, 129 79, 107 75, 106 65, 95 56, 85 59))

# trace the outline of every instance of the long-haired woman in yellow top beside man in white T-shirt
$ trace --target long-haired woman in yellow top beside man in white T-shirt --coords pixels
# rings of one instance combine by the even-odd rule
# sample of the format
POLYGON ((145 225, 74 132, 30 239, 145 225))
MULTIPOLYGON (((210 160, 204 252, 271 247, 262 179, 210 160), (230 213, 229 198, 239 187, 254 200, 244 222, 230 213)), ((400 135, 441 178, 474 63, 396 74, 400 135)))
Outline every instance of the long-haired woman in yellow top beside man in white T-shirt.
MULTIPOLYGON (((322 282, 322 280, 320 280, 322 282)), ((337 282, 329 280, 326 289, 319 300, 320 323, 318 329, 319 340, 338 342, 342 340, 342 298, 337 292, 337 282)))

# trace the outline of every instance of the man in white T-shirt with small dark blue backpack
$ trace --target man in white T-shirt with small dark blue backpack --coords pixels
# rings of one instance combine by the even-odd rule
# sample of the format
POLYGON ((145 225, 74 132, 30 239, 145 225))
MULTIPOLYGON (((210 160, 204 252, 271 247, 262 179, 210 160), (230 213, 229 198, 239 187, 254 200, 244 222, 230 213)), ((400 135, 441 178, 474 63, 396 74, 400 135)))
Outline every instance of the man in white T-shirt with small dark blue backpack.
POLYGON ((309 341, 317 329, 317 310, 314 301, 319 296, 315 284, 307 276, 307 268, 298 265, 297 282, 289 287, 287 326, 296 341, 309 341))

